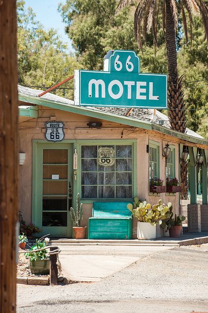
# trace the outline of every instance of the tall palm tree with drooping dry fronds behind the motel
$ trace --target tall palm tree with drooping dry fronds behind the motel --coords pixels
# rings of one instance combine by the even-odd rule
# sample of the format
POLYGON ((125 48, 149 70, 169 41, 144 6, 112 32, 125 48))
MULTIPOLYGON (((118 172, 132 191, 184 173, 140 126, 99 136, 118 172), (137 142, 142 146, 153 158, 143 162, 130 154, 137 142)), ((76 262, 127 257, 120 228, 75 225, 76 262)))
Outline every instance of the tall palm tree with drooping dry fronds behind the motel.
MULTIPOLYGON (((118 14, 125 6, 133 4, 134 0, 120 0, 116 9, 118 14)), ((193 14, 201 14, 208 40, 208 7, 203 0, 139 0, 134 14, 134 34, 142 50, 142 39, 146 41, 146 33, 152 29, 154 44, 157 43, 158 13, 162 14, 163 30, 166 39, 167 68, 168 68, 168 117, 171 128, 185 133, 186 115, 184 93, 182 89, 183 76, 178 76, 176 29, 178 26, 178 11, 182 13, 184 34, 187 36, 187 18, 190 21, 190 46, 192 41, 193 14)), ((182 199, 187 199, 187 162, 181 161, 182 199), (184 175, 186 173, 186 175, 184 175)))

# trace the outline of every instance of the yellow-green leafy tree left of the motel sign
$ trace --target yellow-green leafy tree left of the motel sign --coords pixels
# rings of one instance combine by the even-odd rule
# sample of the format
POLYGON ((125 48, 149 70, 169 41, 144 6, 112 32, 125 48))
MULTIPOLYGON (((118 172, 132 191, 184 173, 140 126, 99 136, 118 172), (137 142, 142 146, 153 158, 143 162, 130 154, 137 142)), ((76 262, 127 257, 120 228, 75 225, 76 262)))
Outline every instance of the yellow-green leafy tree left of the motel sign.
MULTIPOLYGON (((36 21, 31 8, 25 9, 25 2, 18 0, 18 67, 19 83, 26 86, 51 87, 71 76, 80 68, 77 58, 67 50, 57 31, 46 31, 36 21)), ((56 89, 56 94, 73 98, 73 82, 56 89)), ((41 88, 40 88, 41 89, 41 88)))

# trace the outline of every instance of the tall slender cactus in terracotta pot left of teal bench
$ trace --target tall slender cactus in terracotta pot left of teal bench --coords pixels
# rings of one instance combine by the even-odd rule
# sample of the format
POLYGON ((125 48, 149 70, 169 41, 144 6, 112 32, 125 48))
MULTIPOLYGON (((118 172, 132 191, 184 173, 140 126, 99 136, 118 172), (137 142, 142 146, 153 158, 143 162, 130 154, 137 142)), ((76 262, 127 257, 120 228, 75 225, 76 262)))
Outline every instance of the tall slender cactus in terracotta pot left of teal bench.
POLYGON ((86 227, 81 227, 81 221, 83 219, 83 203, 80 203, 80 194, 77 194, 76 211, 73 207, 70 208, 71 219, 75 226, 73 227, 75 238, 84 239, 86 227))

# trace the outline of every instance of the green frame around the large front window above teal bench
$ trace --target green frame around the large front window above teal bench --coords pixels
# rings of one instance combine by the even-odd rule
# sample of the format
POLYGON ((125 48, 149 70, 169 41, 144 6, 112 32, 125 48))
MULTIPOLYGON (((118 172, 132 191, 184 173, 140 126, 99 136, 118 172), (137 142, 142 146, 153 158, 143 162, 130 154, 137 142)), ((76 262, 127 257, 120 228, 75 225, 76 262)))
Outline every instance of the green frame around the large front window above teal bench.
MULTIPOLYGON (((82 157, 81 149, 82 146, 108 146, 108 145, 131 145, 132 146, 132 198, 137 194, 137 139, 115 139, 115 140, 100 140, 100 139, 86 139, 78 140, 78 159, 79 159, 79 170, 78 170, 78 192, 82 197, 82 157)), ((99 172, 97 172, 99 173, 99 172)), ((122 172, 121 172, 122 173, 122 172)), ((129 201, 132 198, 81 198, 83 203, 92 203, 95 201, 129 201)))

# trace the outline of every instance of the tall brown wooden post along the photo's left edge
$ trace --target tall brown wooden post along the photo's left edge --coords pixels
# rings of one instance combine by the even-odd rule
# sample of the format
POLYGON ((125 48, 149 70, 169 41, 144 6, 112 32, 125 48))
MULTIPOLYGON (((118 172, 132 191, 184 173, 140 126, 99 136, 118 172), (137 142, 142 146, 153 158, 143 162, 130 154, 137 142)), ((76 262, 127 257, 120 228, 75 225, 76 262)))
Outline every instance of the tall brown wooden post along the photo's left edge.
POLYGON ((0 0, 0 313, 16 312, 17 83, 16 0, 0 0))

